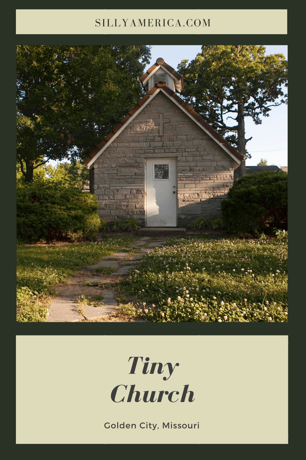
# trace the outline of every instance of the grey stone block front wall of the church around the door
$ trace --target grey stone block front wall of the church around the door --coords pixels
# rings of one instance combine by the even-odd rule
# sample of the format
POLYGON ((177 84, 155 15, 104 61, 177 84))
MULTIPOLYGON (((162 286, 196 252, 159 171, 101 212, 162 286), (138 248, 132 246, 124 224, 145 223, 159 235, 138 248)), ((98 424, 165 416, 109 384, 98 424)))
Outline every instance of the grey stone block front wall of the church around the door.
POLYGON ((233 184, 234 160, 188 115, 158 93, 95 161, 100 218, 145 226, 145 158, 176 157, 178 226, 221 216, 233 184), (159 116, 163 115, 163 135, 159 116))

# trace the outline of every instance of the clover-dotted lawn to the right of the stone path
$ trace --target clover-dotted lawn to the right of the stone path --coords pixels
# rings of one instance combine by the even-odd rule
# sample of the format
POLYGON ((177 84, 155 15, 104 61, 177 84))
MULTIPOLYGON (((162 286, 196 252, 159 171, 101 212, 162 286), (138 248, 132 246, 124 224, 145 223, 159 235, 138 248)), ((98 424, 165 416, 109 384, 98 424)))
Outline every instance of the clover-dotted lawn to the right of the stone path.
POLYGON ((287 322, 287 240, 172 240, 121 291, 137 294, 149 321, 287 322))

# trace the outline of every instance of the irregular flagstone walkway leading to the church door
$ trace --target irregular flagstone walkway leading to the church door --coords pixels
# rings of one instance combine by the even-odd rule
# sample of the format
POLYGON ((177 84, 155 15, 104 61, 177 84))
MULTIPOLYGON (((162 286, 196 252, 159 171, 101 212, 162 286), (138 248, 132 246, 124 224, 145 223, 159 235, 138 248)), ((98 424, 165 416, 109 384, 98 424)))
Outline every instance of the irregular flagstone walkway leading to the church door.
POLYGON ((120 282, 118 277, 122 277, 128 274, 128 271, 133 268, 133 264, 141 263, 140 259, 145 256, 148 251, 154 251, 155 247, 161 247, 161 245, 173 238, 173 236, 162 236, 162 237, 152 237, 152 236, 143 236, 136 240, 131 246, 133 249, 140 249, 141 253, 130 254, 128 252, 118 252, 102 257, 102 259, 95 265, 88 265, 82 271, 79 271, 76 276, 69 278, 67 283, 62 283, 56 286, 56 291, 58 292, 57 296, 53 299, 52 304, 49 307, 49 322, 78 322, 84 318, 86 319, 97 319, 102 316, 108 316, 111 312, 116 311, 117 301, 114 298, 113 286, 120 282), (143 246, 146 247, 143 247, 143 246), (107 260, 108 259, 108 260, 107 260), (109 260, 117 259, 117 260, 109 260), (124 265, 123 265, 124 264, 124 265), (125 265, 128 264, 128 265, 125 265), (99 275, 94 278, 95 270, 98 267, 111 267, 116 269, 115 272, 111 275, 99 275), (98 281, 99 280, 99 281, 98 281), (102 289, 97 289, 97 285, 103 283, 102 289), (112 285, 108 287, 108 285, 112 285), (105 288, 103 289, 103 287, 105 288), (69 292, 65 292, 69 291, 69 292), (101 299, 101 304, 98 306, 91 305, 80 305, 83 308, 83 316, 78 313, 78 303, 79 297, 85 295, 87 298, 95 297, 97 294, 101 294, 103 299, 101 299))

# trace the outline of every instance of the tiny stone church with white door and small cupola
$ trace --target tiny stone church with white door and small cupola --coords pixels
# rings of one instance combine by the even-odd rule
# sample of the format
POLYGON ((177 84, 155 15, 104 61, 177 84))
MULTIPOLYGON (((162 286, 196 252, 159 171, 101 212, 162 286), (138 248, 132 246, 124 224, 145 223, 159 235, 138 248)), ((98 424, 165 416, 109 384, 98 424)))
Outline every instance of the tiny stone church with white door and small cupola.
POLYGON ((108 222, 191 227, 221 217, 243 156, 183 99, 183 78, 160 57, 140 78, 145 96, 85 160, 108 222))

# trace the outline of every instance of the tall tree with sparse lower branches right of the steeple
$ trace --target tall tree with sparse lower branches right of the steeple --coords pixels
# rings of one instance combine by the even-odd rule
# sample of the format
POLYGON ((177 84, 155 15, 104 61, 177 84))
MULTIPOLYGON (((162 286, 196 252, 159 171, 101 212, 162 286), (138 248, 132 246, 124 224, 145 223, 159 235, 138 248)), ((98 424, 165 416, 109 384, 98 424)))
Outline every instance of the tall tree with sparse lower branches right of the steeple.
MULTIPOLYGON (((245 149, 245 117, 256 125, 259 115, 269 116, 271 107, 287 103, 287 61, 283 54, 265 56, 256 45, 203 45, 202 52, 188 64, 178 65, 184 77, 182 92, 190 104, 219 134, 250 158, 245 149), (228 119, 236 121, 229 126, 228 119), (230 134, 228 134, 230 133, 230 134)), ((245 160, 239 166, 245 174, 245 160)))

